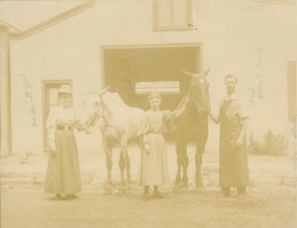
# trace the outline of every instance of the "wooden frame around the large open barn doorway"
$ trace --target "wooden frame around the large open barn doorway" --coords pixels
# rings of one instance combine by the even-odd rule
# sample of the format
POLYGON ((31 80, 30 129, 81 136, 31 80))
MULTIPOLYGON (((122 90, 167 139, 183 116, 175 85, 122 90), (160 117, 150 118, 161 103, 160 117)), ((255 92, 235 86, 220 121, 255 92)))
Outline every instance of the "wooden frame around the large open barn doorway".
POLYGON ((105 85, 105 72, 104 72, 104 51, 109 49, 132 49, 132 48, 199 48, 197 52, 197 66, 203 71, 203 59, 202 59, 202 43, 166 43, 166 44, 135 44, 135 45, 103 45, 100 48, 101 57, 101 89, 105 85))

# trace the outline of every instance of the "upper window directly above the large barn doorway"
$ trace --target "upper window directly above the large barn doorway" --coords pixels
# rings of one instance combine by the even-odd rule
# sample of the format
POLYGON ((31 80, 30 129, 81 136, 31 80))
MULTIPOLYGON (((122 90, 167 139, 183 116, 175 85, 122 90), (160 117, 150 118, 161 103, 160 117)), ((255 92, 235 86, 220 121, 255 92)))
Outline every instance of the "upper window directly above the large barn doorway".
POLYGON ((192 0, 153 0, 154 31, 191 30, 192 0))

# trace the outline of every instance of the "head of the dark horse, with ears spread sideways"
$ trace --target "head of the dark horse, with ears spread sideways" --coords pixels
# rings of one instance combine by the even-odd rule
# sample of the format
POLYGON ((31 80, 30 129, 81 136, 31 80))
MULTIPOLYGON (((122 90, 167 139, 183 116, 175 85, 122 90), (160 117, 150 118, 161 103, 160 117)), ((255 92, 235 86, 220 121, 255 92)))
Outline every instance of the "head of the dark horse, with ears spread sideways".
POLYGON ((207 75, 209 69, 202 73, 190 73, 183 71, 185 75, 191 76, 189 83, 189 98, 193 101, 194 109, 200 114, 207 114, 210 109, 209 83, 207 75))

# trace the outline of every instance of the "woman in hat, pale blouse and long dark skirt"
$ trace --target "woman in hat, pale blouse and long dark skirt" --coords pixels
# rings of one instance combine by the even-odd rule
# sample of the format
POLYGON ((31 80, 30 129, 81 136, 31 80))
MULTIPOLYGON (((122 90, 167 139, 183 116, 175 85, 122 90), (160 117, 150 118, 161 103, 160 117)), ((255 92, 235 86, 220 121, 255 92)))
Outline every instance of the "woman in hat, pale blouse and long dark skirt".
POLYGON ((67 85, 58 90, 59 106, 50 110, 46 127, 48 129, 49 161, 45 180, 45 191, 54 193, 55 199, 76 198, 81 190, 80 170, 76 139, 74 110, 71 108, 72 92, 67 85))

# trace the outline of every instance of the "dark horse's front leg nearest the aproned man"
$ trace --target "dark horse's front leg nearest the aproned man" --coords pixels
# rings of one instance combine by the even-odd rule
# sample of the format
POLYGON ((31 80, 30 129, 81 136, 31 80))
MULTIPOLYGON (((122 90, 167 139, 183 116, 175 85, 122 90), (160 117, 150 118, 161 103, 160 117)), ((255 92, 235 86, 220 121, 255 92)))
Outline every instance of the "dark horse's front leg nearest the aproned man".
POLYGON ((196 163, 196 187, 200 188, 203 187, 202 184, 202 155, 205 151, 205 145, 208 137, 208 130, 207 127, 203 127, 202 131, 199 134, 199 138, 197 140, 197 147, 196 147, 196 156, 195 156, 195 163, 196 163))

